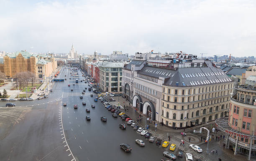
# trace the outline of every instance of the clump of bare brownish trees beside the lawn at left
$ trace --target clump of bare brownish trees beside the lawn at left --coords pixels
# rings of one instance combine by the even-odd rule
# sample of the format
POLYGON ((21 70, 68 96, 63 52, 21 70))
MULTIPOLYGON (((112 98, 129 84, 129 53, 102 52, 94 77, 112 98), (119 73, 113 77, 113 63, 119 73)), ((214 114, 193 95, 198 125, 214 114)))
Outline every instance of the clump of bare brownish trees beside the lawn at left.
POLYGON ((36 74, 32 72, 18 72, 13 76, 16 81, 16 87, 25 88, 28 86, 28 82, 31 82, 31 86, 36 82, 36 74))

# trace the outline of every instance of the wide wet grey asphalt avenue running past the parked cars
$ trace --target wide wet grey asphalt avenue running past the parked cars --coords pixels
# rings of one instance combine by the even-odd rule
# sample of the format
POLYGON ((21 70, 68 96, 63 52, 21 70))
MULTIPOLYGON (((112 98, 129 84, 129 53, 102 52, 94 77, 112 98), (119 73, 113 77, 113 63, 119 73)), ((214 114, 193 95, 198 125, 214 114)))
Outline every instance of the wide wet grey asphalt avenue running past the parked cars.
MULTIPOLYGON (((90 93, 93 92, 89 92, 88 89, 82 94, 84 87, 89 86, 80 82, 84 79, 81 72, 78 71, 78 77, 71 76, 70 72, 61 71, 58 78, 67 78, 67 81, 56 82, 49 98, 15 102, 15 108, 30 107, 31 111, 1 140, 1 160, 70 161, 73 157, 68 146, 77 161, 160 161, 163 158, 163 151, 168 149, 157 146, 155 142, 149 143, 131 126, 121 130, 118 125, 124 121, 120 117, 113 118, 112 113, 107 111, 101 102, 94 102, 96 94, 90 97, 90 93), (75 83, 76 78, 79 79, 78 83, 75 83), (68 87, 68 84, 71 86, 68 87), (73 92, 71 88, 74 89, 73 92), (83 95, 83 99, 79 98, 80 95, 83 95), (67 103, 67 107, 63 107, 64 102, 67 103), (86 106, 83 106, 82 102, 86 102, 86 106), (78 105, 78 109, 74 109, 74 104, 78 105), (91 104, 95 104, 95 108, 91 108, 91 104), (90 113, 85 111, 86 108, 90 109, 90 113), (59 112, 62 114, 62 120, 59 112), (91 116, 91 121, 85 120, 87 115, 91 116), (106 116, 108 121, 102 122, 100 116, 106 116), (61 121, 68 146, 61 132, 61 121), (145 147, 136 144, 135 139, 142 139, 145 147), (132 147, 131 153, 125 153, 120 149, 121 143, 129 144, 132 147)), ((1 102, 1 107, 5 103, 1 102)), ((177 154, 177 150, 174 154, 177 154)), ((177 160, 184 160, 184 157, 177 160)))

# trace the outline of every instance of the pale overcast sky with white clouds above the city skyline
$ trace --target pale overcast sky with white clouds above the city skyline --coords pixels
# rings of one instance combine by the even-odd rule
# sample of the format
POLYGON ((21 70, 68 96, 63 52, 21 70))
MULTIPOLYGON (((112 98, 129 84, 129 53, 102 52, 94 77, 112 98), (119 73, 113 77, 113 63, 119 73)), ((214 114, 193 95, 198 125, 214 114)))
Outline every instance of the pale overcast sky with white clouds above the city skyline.
POLYGON ((256 56, 255 0, 0 0, 0 51, 256 56))

